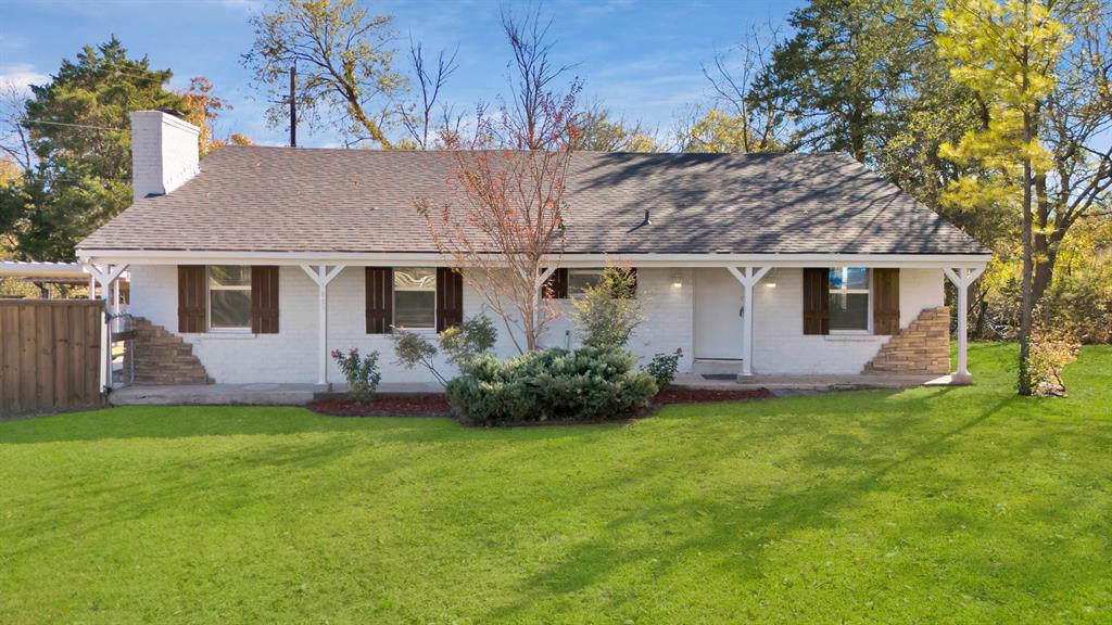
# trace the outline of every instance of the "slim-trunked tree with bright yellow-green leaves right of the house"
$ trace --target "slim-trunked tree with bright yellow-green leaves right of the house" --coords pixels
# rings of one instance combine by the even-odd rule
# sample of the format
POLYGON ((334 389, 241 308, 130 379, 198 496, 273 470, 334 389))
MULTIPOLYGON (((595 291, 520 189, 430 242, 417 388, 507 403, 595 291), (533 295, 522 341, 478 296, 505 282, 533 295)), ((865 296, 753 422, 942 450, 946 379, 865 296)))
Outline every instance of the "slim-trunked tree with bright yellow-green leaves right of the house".
POLYGON ((1027 367, 1034 311, 1035 179, 1052 167, 1041 141, 1045 108, 1055 88, 1055 69, 1069 42, 1064 26, 1042 0, 962 0, 943 12, 939 43, 953 62, 955 80, 981 95, 989 111, 983 130, 967 132, 944 152, 954 160, 976 160, 999 172, 963 178, 952 192, 971 201, 1014 207, 1022 215, 1022 302, 1020 309, 1019 391, 1030 395, 1027 367), (987 199, 985 199, 987 198, 987 199))

